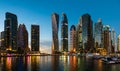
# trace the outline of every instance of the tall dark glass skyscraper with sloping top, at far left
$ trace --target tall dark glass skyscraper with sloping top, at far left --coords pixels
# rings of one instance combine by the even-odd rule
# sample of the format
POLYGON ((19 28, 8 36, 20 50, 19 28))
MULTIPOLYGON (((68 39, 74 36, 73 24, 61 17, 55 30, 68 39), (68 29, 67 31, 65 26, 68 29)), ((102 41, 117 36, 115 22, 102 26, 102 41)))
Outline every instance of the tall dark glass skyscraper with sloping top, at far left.
POLYGON ((17 50, 17 16, 7 12, 5 18, 5 47, 7 50, 17 50))

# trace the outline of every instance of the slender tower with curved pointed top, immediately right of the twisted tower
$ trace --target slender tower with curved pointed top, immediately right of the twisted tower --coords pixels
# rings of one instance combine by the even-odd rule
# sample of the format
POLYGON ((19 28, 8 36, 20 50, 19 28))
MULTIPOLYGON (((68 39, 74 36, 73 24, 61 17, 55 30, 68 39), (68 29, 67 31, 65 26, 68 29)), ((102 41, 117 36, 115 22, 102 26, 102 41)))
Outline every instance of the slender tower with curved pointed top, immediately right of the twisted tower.
POLYGON ((68 19, 66 14, 62 14, 62 22, 61 22, 61 43, 62 43, 62 51, 68 51, 68 19))

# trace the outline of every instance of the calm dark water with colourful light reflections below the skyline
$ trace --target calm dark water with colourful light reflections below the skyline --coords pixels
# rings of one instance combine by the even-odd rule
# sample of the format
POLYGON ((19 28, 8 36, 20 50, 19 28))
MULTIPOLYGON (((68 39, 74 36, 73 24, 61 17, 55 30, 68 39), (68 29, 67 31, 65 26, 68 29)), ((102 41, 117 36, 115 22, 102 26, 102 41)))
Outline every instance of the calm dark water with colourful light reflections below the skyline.
POLYGON ((0 71, 120 71, 120 64, 77 56, 1 57, 0 71))

